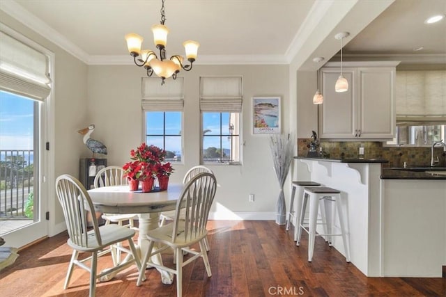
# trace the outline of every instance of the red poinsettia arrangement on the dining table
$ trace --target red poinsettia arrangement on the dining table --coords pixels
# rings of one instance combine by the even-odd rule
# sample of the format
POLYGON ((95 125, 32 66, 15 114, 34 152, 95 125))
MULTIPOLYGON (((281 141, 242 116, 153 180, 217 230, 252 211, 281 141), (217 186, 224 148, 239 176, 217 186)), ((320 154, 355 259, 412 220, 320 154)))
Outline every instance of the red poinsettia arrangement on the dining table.
POLYGON ((166 151, 155 145, 141 143, 137 150, 130 151, 130 161, 125 163, 123 170, 125 177, 129 180, 153 181, 158 177, 161 190, 167 189, 169 175, 174 172, 171 163, 162 163, 166 156, 166 151))

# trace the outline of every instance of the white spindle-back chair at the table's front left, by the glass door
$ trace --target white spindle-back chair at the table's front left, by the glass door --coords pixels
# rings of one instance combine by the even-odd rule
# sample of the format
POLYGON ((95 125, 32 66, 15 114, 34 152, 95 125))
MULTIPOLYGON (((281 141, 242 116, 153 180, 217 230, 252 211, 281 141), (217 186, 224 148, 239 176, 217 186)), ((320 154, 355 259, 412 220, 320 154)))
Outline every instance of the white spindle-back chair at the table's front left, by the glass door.
MULTIPOLYGON (((66 275, 63 289, 67 289, 70 284, 70 278, 75 265, 89 271, 90 273, 90 294, 95 296, 96 279, 104 275, 118 271, 129 264, 136 263, 138 271, 141 269, 141 263, 134 247, 134 230, 116 224, 104 225, 99 227, 98 220, 93 216, 93 229, 87 230, 87 213, 94 210, 93 202, 84 186, 71 175, 61 175, 56 179, 56 195, 61 203, 63 216, 66 220, 68 230, 68 246, 73 249, 70 264, 66 275), (117 243, 128 241, 128 248, 118 246, 117 243), (98 257, 118 249, 131 255, 129 262, 115 265, 102 273, 97 273, 98 257), (78 260, 79 252, 91 252, 90 257, 78 260), (91 266, 86 266, 84 262, 90 261, 91 266)), ((115 261, 114 261, 115 262, 115 261)))

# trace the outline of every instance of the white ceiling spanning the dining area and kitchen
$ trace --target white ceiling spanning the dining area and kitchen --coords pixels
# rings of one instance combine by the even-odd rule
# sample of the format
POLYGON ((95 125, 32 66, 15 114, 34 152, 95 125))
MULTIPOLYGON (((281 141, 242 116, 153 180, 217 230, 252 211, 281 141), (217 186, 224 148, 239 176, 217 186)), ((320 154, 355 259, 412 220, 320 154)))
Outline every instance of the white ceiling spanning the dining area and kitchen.
MULTIPOLYGON (((337 32, 323 30, 324 22, 334 22, 339 26, 331 29, 353 32, 344 42, 346 56, 390 55, 413 62, 429 57, 429 63, 446 63, 446 19, 424 24, 426 17, 446 13, 445 0, 361 1, 385 10, 373 15, 357 9, 353 15, 353 0, 166 0, 167 54, 183 54, 181 44, 190 39, 201 44, 197 64, 286 64, 299 53, 299 42, 325 38, 329 42, 319 42, 305 58, 311 61, 319 52, 327 61, 341 46, 334 40, 337 32), (332 20, 341 10, 350 13, 349 26, 332 20), (371 23, 362 24, 367 13, 371 23), (309 27, 322 29, 305 34, 309 27)), ((126 33, 142 35, 143 47, 154 49, 150 27, 160 22, 161 0, 2 0, 0 8, 86 63, 119 64, 132 63, 126 33)))

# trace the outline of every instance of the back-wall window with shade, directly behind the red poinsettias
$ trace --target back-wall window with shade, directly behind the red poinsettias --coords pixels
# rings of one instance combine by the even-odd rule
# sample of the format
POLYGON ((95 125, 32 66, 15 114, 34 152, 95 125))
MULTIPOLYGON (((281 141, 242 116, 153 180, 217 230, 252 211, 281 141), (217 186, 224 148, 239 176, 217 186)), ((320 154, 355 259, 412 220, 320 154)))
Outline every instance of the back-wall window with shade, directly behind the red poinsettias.
POLYGON ((180 162, 183 156, 183 77, 163 86, 157 77, 144 77, 141 85, 146 143, 166 150, 167 161, 180 162))

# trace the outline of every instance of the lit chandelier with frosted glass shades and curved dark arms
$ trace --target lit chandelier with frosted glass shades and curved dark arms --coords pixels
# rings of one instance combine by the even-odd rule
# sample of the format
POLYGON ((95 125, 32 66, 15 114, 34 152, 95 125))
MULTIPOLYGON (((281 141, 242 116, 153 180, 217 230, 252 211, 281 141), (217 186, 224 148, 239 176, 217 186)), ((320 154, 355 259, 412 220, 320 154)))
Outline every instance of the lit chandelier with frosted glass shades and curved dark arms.
POLYGON ((147 70, 148 77, 151 77, 153 72, 155 72, 155 74, 162 79, 161 84, 164 84, 164 79, 169 77, 176 79, 176 74, 180 72, 180 68, 183 68, 185 71, 192 70, 192 63, 194 63, 195 59, 197 58, 197 51, 198 47, 200 46, 198 42, 192 40, 183 42, 186 58, 187 61, 190 62, 190 65, 184 65, 184 58, 180 55, 171 56, 170 59, 167 60, 166 44, 169 29, 167 29, 167 26, 164 26, 165 21, 166 16, 164 15, 164 0, 162 0, 161 22, 160 24, 153 25, 151 28, 153 32, 153 42, 160 51, 159 57, 150 49, 144 49, 141 51, 143 38, 140 35, 134 33, 125 35, 128 51, 130 52, 130 56, 133 57, 134 64, 139 67, 144 66, 144 68, 147 70))

